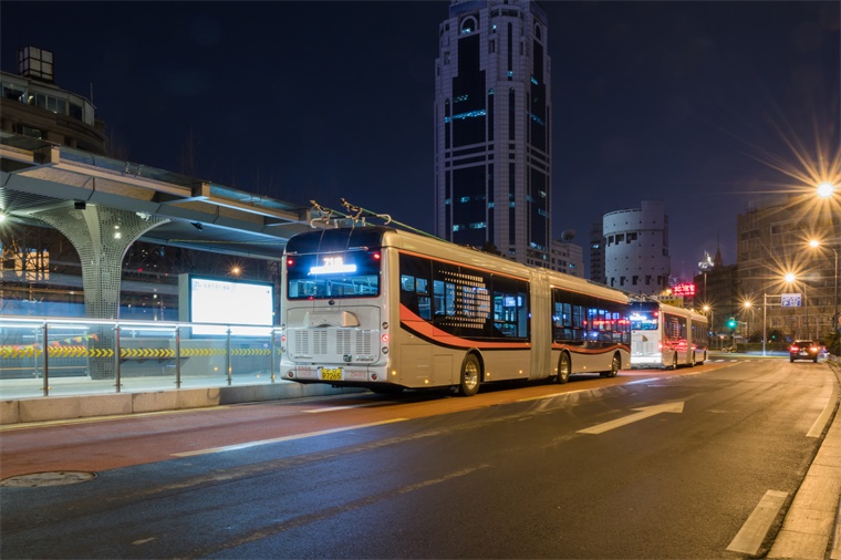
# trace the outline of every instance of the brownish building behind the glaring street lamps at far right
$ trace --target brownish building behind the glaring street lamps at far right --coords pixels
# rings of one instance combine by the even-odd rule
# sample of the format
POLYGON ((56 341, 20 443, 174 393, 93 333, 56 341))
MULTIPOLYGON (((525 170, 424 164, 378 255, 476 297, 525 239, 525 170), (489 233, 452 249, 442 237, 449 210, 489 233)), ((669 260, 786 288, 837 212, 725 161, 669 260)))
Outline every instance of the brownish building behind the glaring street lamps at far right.
POLYGON ((738 215, 736 228, 739 299, 755 310, 766 307, 769 338, 821 340, 833 321, 838 328, 838 193, 827 199, 800 194, 762 200, 738 215), (820 245, 811 247, 811 240, 820 245))

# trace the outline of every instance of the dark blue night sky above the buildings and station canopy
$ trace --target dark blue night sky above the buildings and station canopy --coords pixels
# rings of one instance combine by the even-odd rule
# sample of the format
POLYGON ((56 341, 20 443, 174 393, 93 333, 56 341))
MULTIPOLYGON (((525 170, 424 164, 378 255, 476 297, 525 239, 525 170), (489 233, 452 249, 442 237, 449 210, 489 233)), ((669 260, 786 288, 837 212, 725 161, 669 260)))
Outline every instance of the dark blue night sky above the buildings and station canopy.
MULTIPOLYGON (((839 163, 838 0, 541 2, 553 236, 664 200, 689 279, 736 215, 839 163), (798 164, 798 156, 806 163, 798 164)), ((340 198, 433 231, 438 24, 449 2, 17 2, 2 70, 51 50, 121 158, 300 205, 340 198), (193 154, 193 156, 190 156, 193 154)), ((589 270, 589 262, 585 262, 589 270)))

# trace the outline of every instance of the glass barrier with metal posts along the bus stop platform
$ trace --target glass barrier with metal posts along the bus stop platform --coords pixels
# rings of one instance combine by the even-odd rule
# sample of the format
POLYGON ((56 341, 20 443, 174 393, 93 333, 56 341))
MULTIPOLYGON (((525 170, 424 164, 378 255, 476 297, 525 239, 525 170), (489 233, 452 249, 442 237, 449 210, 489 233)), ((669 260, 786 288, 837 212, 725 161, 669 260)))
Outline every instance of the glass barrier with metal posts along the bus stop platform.
POLYGON ((274 383, 280 328, 0 317, 0 398, 274 383))

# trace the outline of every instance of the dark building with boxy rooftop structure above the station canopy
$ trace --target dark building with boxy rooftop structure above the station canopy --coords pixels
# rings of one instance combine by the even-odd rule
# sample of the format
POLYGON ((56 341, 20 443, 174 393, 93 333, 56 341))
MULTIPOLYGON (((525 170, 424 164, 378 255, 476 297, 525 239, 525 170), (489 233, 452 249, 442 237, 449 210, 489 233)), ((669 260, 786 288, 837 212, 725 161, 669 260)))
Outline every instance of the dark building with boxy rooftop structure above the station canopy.
POLYGON ((85 152, 106 153, 105 126, 85 97, 55 85, 53 53, 18 50, 18 75, 0 73, 0 129, 85 152))

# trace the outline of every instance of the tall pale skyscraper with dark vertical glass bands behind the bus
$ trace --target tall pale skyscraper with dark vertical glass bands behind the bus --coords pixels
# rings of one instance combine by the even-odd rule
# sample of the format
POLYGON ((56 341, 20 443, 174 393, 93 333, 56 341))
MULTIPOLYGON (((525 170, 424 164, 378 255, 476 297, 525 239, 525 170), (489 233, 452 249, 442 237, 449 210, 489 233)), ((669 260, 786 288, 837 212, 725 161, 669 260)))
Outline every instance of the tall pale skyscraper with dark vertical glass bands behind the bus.
POLYGON ((549 268, 547 17, 529 0, 454 0, 438 38, 436 235, 549 268))

